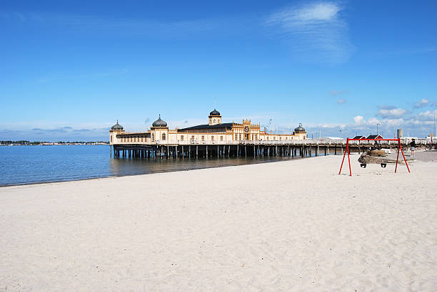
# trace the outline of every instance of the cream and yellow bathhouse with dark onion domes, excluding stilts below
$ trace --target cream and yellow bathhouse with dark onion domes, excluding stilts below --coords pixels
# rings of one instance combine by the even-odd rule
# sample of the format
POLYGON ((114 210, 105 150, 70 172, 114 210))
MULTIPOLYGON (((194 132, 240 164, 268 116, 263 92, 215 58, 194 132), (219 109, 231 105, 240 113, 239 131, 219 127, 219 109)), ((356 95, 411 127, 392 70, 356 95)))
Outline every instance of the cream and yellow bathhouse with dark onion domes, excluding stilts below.
POLYGON ((221 114, 214 109, 208 116, 208 124, 169 129, 167 122, 154 121, 147 132, 125 132, 124 127, 116 122, 109 130, 110 144, 226 144, 227 142, 243 141, 285 141, 306 140, 306 130, 299 124, 291 134, 273 134, 261 130, 259 124, 251 120, 240 122, 221 122, 221 114))

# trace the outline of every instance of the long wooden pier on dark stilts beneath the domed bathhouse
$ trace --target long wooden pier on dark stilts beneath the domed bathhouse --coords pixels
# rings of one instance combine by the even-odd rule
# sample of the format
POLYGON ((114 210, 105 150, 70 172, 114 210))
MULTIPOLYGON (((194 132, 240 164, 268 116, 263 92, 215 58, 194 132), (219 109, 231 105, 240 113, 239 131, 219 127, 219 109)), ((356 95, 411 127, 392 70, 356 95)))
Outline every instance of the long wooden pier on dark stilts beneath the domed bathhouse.
MULTIPOLYGON (((403 147, 408 141, 401 140, 403 147)), ((398 145, 393 141, 378 142, 383 148, 397 151, 398 145)), ((416 146, 426 145, 426 140, 416 140, 416 146)), ((350 141, 351 152, 362 153, 373 142, 350 141)), ((186 141, 178 144, 159 143, 117 144, 112 145, 114 157, 135 159, 169 159, 191 157, 313 157, 320 155, 343 155, 346 150, 346 140, 291 140, 291 141, 238 141, 238 142, 196 142, 186 141)))

